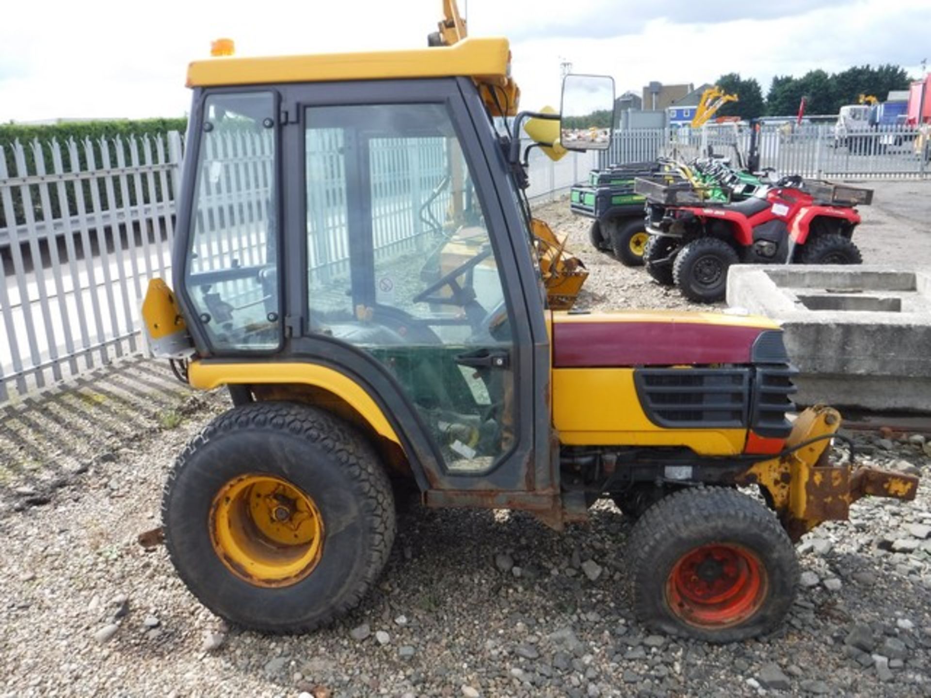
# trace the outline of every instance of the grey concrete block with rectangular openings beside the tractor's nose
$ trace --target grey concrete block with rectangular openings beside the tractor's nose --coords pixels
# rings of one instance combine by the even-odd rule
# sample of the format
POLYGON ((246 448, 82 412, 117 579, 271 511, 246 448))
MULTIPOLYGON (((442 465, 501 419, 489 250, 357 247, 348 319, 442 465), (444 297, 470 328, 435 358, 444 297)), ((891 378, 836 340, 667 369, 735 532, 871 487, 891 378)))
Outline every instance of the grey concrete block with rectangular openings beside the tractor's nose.
POLYGON ((727 302, 780 323, 799 404, 931 411, 931 267, 739 264, 727 302))

